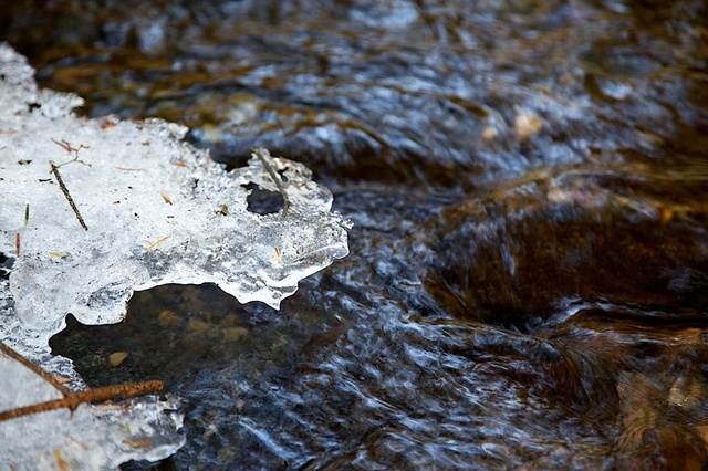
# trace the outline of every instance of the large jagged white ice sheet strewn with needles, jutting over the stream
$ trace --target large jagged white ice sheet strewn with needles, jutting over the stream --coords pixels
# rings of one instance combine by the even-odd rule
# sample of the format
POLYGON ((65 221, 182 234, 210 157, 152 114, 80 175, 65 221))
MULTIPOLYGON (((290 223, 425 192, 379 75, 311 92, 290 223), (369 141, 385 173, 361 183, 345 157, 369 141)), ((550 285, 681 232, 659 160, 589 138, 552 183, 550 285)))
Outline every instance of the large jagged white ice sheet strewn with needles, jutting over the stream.
MULTIPOLYGON (((25 60, 0 44, 0 262, 14 259, 9 274, 0 271, 0 342, 50 373, 75 378, 48 347, 67 313, 115 323, 134 290, 206 282, 278 308, 300 280, 348 253, 348 222, 330 211, 332 195, 302 165, 264 151, 290 207, 287 216, 257 214, 247 208, 249 188, 278 191, 259 159, 227 172, 181 142, 183 126, 81 118, 72 114, 81 104, 39 91, 25 60)), ((14 407, 9 389, 31 384, 12 368, 0 363, 0 409, 14 407)), ((53 428, 60 415, 69 416, 37 417, 53 428)), ((0 422, 0 452, 15 421, 0 422)))

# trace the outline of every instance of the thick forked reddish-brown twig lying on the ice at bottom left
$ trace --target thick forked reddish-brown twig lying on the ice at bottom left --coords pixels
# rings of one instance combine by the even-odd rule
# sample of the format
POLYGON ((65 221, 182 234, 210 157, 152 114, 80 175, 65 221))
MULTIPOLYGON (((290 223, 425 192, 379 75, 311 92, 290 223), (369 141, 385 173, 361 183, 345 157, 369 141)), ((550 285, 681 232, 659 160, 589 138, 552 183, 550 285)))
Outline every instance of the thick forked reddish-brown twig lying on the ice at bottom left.
POLYGON ((21 363, 24 367, 29 368, 37 375, 41 376, 61 394, 64 395, 61 399, 49 400, 46 402, 34 404, 32 406, 18 407, 0 412, 0 421, 10 420, 30 414, 44 412, 48 410, 69 408, 72 412, 84 402, 96 402, 101 400, 115 399, 118 397, 132 397, 139 394, 157 393, 163 389, 164 384, 159 380, 143 381, 143 383, 128 383, 124 385, 106 386, 103 388, 94 388, 85 391, 72 391, 64 387, 61 383, 54 379, 50 374, 39 368, 32 362, 28 360, 12 348, 0 343, 0 350, 10 358, 21 363))

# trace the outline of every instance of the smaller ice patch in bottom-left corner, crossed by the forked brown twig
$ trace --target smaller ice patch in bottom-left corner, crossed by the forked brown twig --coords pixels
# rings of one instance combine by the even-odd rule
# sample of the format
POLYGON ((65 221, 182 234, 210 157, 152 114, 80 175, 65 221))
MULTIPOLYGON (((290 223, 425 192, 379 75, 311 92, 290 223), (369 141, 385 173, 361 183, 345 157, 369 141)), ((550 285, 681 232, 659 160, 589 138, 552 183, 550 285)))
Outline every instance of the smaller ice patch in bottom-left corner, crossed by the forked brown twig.
MULTIPOLYGON (((1 408, 59 399, 49 383, 17 362, 0 356, 1 408)), ((123 405, 125 406, 125 405, 123 405)), ((90 406, 58 409, 0 421, 2 469, 108 470, 131 459, 157 461, 185 441, 175 399, 140 398, 132 407, 90 406)))

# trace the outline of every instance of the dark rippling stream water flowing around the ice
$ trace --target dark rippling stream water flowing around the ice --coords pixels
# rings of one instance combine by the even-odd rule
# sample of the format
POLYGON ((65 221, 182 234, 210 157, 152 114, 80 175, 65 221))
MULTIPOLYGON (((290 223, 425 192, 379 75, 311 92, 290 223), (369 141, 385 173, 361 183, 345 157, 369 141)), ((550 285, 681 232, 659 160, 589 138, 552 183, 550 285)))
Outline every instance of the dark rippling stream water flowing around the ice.
POLYGON ((169 465, 708 467, 705 2, 44 3, 0 13, 43 86, 354 222, 280 312, 164 286, 55 337, 185 398, 169 465))

